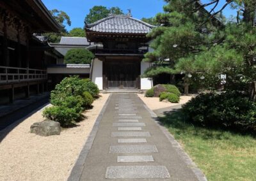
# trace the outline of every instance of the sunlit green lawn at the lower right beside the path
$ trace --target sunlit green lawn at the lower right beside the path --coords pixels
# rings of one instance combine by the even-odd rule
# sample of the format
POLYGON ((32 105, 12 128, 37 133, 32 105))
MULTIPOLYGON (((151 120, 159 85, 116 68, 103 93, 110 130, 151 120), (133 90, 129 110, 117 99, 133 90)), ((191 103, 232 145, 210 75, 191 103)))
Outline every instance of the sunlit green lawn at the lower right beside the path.
POLYGON ((194 126, 181 111, 159 117, 207 180, 256 180, 256 138, 194 126))

